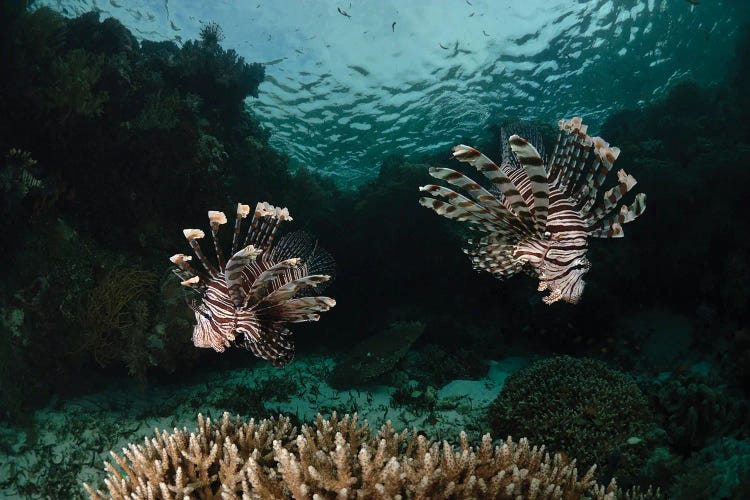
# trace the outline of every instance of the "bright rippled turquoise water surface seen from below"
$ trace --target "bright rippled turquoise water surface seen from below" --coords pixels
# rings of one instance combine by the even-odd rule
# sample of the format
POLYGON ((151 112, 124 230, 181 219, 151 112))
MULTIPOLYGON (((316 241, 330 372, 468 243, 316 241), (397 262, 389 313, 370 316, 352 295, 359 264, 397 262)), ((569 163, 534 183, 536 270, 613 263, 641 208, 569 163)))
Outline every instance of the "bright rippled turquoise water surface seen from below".
POLYGON ((487 139, 499 116, 584 115, 598 126, 684 78, 715 83, 750 19, 742 0, 36 5, 97 10, 149 40, 180 42, 219 23, 224 46, 266 65, 249 105, 271 145, 340 186, 373 178, 390 154, 487 139))

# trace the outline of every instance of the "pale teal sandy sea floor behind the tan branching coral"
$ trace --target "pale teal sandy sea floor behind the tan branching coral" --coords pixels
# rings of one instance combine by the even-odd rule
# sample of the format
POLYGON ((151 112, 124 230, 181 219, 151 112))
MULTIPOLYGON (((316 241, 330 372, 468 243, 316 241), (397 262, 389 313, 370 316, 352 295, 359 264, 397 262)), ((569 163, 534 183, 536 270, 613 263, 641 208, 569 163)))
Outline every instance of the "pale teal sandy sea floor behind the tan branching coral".
POLYGON ((356 411, 374 429, 390 420, 398 430, 416 428, 434 439, 455 440, 464 430, 477 441, 487 432, 479 427, 482 414, 506 377, 527 362, 490 361, 484 378, 442 387, 413 382, 413 396, 429 397, 411 401, 427 399, 429 408, 396 403, 397 389, 389 385, 333 389, 326 377, 334 361, 327 356, 297 359, 283 369, 253 365, 214 372, 173 385, 123 379, 96 394, 53 402, 25 429, 0 424, 0 498, 84 498, 83 482, 101 485, 109 450, 142 442, 154 429, 194 429, 198 413, 220 418, 230 412, 247 420, 284 413, 307 422, 318 413, 356 411))

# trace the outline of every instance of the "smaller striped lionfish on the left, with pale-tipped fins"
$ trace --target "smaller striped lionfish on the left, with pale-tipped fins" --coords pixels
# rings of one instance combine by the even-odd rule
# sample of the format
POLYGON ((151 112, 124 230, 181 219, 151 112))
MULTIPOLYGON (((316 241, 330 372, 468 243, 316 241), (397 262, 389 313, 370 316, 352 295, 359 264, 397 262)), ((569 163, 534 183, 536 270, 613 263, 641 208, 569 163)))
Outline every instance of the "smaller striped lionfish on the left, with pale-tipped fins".
POLYGON ((199 292, 201 299, 189 305, 197 324, 193 329, 196 347, 212 347, 223 352, 238 345, 276 366, 294 357, 294 342, 287 323, 317 321, 323 311, 336 305, 330 297, 314 296, 315 288, 329 281, 334 262, 307 233, 290 233, 274 244, 276 231, 291 221, 286 208, 261 202, 255 207, 242 248, 238 250, 242 219, 250 207, 237 204, 237 216, 229 260, 219 243, 219 226, 226 224, 223 212, 211 210, 208 219, 214 240, 218 267, 201 250, 200 229, 183 233, 200 260, 202 270, 190 265, 192 257, 173 255, 175 273, 182 284, 199 292))

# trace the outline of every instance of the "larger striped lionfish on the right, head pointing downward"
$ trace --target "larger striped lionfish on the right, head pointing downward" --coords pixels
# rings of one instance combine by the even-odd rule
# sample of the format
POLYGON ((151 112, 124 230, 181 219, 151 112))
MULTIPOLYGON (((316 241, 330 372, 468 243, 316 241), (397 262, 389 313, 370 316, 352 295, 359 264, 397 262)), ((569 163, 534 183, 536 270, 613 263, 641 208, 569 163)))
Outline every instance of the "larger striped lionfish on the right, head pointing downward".
MULTIPOLYGON (((474 148, 455 146, 453 157, 481 172, 492 183, 492 192, 450 168, 431 168, 431 176, 462 188, 469 197, 430 184, 420 191, 445 201, 423 197, 419 203, 484 233, 468 239, 464 249, 475 269, 498 278, 525 270, 539 278, 539 291, 549 291, 545 303, 575 304, 583 292, 583 275, 591 267, 586 259, 588 238, 622 237, 622 224, 643 213, 646 195, 639 193, 630 206, 618 207, 636 184, 620 170, 618 185, 598 201, 597 192, 620 150, 600 137, 589 137, 580 118, 560 120, 559 127, 547 165, 518 135, 511 135, 507 143, 503 140, 499 167, 474 148)), ((504 131, 502 135, 504 139, 504 131)))

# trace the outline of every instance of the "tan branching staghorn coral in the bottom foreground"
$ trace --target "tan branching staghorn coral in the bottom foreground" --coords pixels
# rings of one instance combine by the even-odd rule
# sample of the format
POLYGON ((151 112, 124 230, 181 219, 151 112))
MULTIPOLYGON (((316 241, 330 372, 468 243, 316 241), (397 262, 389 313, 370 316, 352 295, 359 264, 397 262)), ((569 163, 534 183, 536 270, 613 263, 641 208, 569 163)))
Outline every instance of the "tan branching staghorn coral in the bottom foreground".
MULTIPOLYGON (((243 423, 225 413, 198 429, 156 431, 105 463, 107 493, 84 484, 92 500, 125 498, 644 498, 578 477, 575 460, 544 447, 489 434, 472 447, 437 443, 390 423, 373 436, 355 414, 318 415, 297 433, 289 418, 243 423)), ((648 496, 648 494, 646 495, 648 496)))

